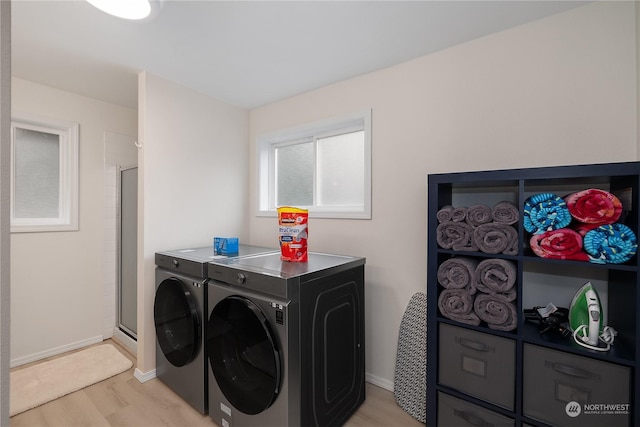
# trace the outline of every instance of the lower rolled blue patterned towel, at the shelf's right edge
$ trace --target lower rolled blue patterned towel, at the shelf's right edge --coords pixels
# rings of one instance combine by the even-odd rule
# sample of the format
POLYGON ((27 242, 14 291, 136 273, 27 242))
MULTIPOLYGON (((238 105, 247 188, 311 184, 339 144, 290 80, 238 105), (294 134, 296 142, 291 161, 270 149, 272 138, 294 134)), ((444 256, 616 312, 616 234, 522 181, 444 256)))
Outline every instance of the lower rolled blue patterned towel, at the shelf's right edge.
POLYGON ((598 264, 621 264, 638 250, 638 239, 624 224, 606 224, 587 232, 583 238, 589 261, 598 264))

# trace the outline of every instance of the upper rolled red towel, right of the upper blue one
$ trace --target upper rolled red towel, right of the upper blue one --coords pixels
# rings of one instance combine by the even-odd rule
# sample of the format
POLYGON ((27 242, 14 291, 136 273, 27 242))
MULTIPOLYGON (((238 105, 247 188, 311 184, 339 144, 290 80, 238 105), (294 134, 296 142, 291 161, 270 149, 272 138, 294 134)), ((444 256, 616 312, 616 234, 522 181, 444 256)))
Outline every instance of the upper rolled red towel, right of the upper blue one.
POLYGON ((613 224, 622 213, 620 199, 597 188, 569 194, 564 200, 571 216, 585 224, 613 224))

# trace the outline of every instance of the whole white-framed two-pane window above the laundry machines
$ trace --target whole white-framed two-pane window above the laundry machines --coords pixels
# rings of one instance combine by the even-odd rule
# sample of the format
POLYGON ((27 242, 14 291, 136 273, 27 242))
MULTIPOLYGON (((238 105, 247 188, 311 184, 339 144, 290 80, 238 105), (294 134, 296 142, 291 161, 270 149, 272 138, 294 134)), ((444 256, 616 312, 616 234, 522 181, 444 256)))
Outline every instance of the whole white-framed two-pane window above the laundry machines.
POLYGON ((258 215, 371 218, 371 111, 258 137, 258 215))

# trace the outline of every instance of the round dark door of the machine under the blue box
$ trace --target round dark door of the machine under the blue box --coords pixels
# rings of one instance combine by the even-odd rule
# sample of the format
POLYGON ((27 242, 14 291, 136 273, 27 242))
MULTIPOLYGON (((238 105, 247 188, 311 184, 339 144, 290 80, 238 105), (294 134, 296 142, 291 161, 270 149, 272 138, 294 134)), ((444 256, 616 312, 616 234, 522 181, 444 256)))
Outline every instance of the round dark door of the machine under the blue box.
POLYGON ((200 350, 202 326, 189 287, 173 277, 163 280, 156 290, 153 317, 156 338, 167 360, 178 367, 190 363, 200 350))

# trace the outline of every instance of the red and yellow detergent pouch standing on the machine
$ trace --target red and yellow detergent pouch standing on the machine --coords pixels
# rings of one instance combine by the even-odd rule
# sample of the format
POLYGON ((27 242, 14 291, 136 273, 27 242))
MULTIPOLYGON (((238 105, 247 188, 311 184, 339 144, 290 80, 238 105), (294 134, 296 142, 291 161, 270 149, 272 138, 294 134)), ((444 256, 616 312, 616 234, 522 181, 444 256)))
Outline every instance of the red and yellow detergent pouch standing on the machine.
POLYGON ((278 238, 280 259, 306 262, 309 211, 307 209, 282 206, 278 208, 278 238))

